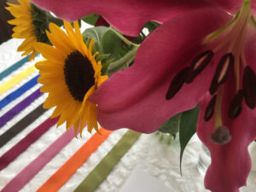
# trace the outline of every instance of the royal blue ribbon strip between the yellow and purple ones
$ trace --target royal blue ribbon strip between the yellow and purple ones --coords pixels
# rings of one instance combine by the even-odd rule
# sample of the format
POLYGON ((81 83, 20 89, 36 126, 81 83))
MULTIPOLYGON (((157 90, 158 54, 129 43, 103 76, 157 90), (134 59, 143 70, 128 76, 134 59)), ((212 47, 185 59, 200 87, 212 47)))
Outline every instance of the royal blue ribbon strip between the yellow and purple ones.
POLYGON ((33 79, 26 82, 26 84, 23 84, 18 90, 13 91, 8 96, 5 96, 3 100, 0 101, 0 109, 7 106, 10 102, 14 101, 16 98, 21 96, 23 93, 26 92, 26 90, 31 89, 34 85, 38 84, 38 77, 40 75, 34 77, 33 79))

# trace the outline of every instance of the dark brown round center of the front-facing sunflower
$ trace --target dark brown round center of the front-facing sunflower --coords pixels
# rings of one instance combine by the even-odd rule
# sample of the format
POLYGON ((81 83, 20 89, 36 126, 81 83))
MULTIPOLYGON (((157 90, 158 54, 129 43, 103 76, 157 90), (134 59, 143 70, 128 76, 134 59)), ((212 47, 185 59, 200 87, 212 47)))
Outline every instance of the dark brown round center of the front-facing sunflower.
POLYGON ((86 92, 95 84, 94 73, 90 61, 78 50, 67 55, 64 75, 74 100, 83 102, 86 92))

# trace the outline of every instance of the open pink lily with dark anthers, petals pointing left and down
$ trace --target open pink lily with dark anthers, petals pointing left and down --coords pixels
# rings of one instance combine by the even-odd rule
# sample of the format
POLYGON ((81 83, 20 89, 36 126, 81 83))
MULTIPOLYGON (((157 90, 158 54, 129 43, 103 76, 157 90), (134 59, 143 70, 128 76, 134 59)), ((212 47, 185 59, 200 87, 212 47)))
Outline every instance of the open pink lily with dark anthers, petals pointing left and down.
POLYGON ((247 146, 256 138, 253 5, 245 3, 236 19, 208 8, 167 20, 144 40, 130 68, 90 96, 100 124, 149 133, 200 102, 197 135, 212 157, 205 186, 239 191, 251 169, 247 146))

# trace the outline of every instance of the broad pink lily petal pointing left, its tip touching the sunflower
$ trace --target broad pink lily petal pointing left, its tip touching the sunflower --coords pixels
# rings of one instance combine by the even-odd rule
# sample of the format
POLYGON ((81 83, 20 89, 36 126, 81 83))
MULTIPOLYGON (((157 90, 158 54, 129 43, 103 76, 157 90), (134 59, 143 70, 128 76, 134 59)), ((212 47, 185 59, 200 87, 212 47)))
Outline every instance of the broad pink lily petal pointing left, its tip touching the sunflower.
POLYGON ((172 115, 194 108, 211 83, 211 65, 171 100, 166 100, 166 91, 174 75, 201 53, 202 39, 230 19, 221 10, 201 9, 158 27, 143 41, 134 64, 113 74, 89 97, 98 104, 100 124, 149 133, 172 115))

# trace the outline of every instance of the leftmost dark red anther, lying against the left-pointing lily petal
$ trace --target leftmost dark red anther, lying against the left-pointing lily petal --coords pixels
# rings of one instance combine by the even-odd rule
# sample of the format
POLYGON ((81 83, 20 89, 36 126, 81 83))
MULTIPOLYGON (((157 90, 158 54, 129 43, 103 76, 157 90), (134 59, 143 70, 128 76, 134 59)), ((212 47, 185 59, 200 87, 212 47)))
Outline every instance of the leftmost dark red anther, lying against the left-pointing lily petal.
POLYGON ((185 67, 172 79, 172 82, 166 93, 166 100, 172 99, 172 97, 177 94, 177 91, 182 88, 188 73, 189 67, 185 67))

